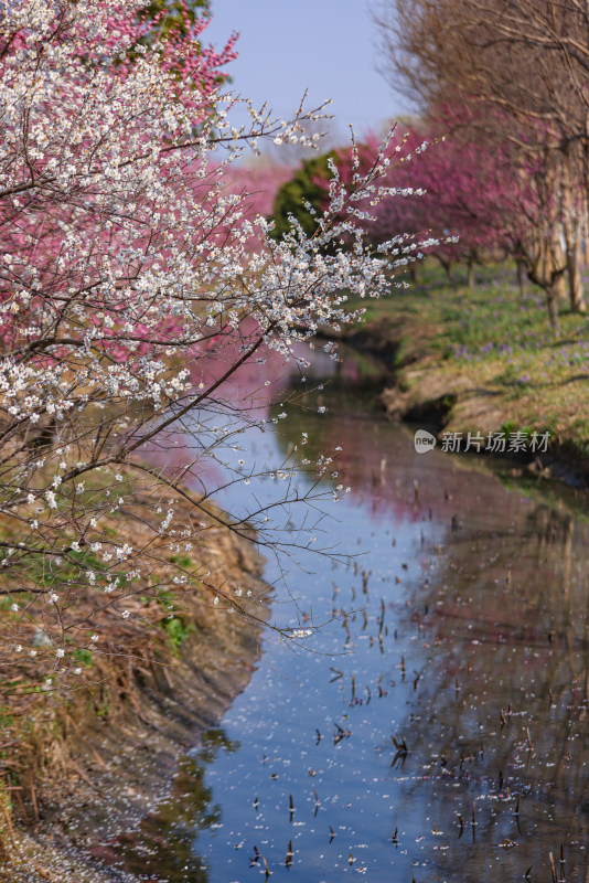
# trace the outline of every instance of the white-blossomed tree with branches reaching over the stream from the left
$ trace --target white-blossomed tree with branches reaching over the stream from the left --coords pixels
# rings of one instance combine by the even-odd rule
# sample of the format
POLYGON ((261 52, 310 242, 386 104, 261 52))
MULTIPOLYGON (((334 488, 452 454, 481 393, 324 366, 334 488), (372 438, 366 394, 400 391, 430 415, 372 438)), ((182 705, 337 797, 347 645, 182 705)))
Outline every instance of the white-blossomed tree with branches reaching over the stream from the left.
MULTIPOLYGON (((161 478, 146 450, 164 438, 171 446, 191 413, 200 480, 196 460, 215 458, 236 432, 238 405, 224 427, 223 383, 248 360, 264 363, 263 348, 293 358, 320 326, 354 321, 349 297, 386 294, 390 272, 424 248, 397 236, 375 253, 366 241, 371 206, 416 192, 382 185, 388 140, 366 174, 354 152, 352 192, 332 167, 314 236, 292 220, 276 242, 264 217, 246 220, 248 194, 228 192, 227 166, 264 138, 317 145, 304 125, 323 107, 301 104, 281 121, 248 106, 249 128, 232 128, 233 96, 210 95, 196 75, 179 81, 157 45, 135 45, 117 25, 136 10, 135 0, 10 0, 0 19, 0 511, 17 536, 1 563, 21 567, 19 591, 56 609, 44 626, 56 660, 60 611, 76 592, 99 592, 100 604, 106 594, 132 619, 125 599, 144 554, 105 539, 101 525, 121 510, 132 469, 161 478), (212 354, 216 377, 203 368, 212 354), (47 582, 65 564, 67 577, 47 582)), ((331 468, 330 457, 317 462, 319 475, 331 468)), ((167 488, 188 469, 164 477, 167 488)), ((237 471, 245 481, 254 472, 243 459, 237 471)), ((290 486, 292 466, 274 476, 290 486)), ((156 533, 174 536, 167 506, 156 533)), ((86 636, 87 646, 97 640, 86 636)))

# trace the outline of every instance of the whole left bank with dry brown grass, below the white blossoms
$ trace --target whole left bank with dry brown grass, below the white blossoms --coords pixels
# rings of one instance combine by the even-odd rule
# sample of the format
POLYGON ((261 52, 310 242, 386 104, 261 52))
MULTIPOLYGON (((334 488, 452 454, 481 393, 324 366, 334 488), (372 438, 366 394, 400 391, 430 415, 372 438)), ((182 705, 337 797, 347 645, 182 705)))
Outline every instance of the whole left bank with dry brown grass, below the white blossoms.
MULTIPOLYGON (((179 523, 188 521, 190 506, 176 501, 175 513, 179 523)), ((257 659, 268 608, 253 545, 214 520, 203 522, 205 541, 176 563, 207 578, 186 592, 169 578, 169 542, 152 540, 133 514, 129 507, 105 530, 119 543, 149 534, 150 578, 170 587, 138 599, 137 615, 124 620, 77 597, 72 616, 84 615, 87 604, 100 641, 92 653, 79 651, 75 689, 47 687, 50 648, 3 660, 0 877, 7 883, 110 879, 100 871, 100 844, 135 826, 165 792, 178 756, 217 723, 257 659), (222 587, 221 603, 213 585, 222 587), (229 616, 225 596, 235 589, 244 595, 243 614, 229 616)), ((135 609, 132 598, 128 606, 135 609)), ((2 619, 7 635, 10 617, 2 619)), ((26 627, 34 646, 35 620, 21 631, 26 627)))

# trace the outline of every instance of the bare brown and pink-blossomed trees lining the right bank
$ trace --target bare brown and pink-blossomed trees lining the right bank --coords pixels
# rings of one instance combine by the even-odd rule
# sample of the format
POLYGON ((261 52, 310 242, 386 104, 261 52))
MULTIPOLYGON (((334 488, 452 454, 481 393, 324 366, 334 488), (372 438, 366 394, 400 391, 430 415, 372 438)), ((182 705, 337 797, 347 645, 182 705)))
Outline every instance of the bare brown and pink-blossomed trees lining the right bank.
MULTIPOLYGON (((522 288, 527 277, 545 291, 554 328, 560 304, 583 311, 589 6, 383 0, 376 20, 383 71, 417 102, 419 116, 399 130, 407 149, 388 172, 387 183, 408 198, 377 208, 368 224, 374 242, 404 231, 436 236, 433 251, 449 274, 465 264, 471 284, 478 263, 510 257, 522 288)), ((377 139, 360 150, 368 167, 377 139)), ((275 235, 288 226, 289 212, 311 232, 303 200, 318 210, 330 158, 345 181, 350 156, 349 148, 302 163, 278 191, 275 235)))

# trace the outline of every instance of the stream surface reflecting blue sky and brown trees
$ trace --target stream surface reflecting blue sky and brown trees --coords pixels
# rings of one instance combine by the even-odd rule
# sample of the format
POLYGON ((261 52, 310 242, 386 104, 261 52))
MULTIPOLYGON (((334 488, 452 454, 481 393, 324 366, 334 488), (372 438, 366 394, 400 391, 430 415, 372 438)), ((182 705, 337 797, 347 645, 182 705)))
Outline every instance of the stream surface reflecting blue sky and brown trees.
POLYGON ((343 447, 329 530, 350 560, 303 561, 275 609, 325 626, 308 650, 267 639, 226 735, 114 852, 171 883, 539 882, 550 852, 589 880, 586 521, 319 396, 256 444, 343 447))

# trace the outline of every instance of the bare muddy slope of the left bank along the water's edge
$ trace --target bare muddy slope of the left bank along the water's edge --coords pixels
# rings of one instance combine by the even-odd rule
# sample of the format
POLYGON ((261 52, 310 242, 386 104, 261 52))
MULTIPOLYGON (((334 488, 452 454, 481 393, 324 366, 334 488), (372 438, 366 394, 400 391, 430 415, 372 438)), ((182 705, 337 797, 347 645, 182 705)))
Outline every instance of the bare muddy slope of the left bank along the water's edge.
POLYGON ((179 757, 219 721, 259 653, 268 595, 255 550, 219 531, 207 564, 222 583, 251 592, 244 605, 251 618, 218 610, 213 598, 194 598, 186 607, 193 630, 178 651, 150 668, 121 661, 130 677, 95 684, 58 711, 34 784, 28 788, 21 777, 12 822, 6 818, 12 834, 2 881, 133 880, 111 864, 109 843, 167 796, 179 757))

